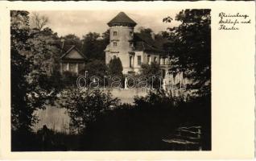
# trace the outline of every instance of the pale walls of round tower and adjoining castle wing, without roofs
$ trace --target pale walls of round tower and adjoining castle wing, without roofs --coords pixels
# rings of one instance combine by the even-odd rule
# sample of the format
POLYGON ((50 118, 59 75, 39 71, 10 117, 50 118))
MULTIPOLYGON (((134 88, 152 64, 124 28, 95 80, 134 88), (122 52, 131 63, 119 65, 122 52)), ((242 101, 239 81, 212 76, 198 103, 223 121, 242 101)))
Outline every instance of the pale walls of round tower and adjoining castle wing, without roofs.
POLYGON ((123 74, 140 72, 141 64, 151 64, 152 62, 164 64, 163 62, 166 60, 160 60, 159 53, 134 51, 133 39, 134 27, 121 25, 110 27, 109 45, 105 49, 105 64, 109 64, 114 56, 118 57, 122 62, 123 74), (141 64, 138 64, 138 56, 141 57, 141 64), (149 61, 148 56, 150 56, 149 61))

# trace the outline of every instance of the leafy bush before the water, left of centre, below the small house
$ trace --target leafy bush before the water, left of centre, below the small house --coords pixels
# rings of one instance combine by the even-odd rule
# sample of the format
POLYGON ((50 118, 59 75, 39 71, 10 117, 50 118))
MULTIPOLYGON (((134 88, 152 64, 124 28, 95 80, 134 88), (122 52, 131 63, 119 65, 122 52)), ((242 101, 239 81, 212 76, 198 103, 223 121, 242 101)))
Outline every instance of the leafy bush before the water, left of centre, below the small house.
POLYGON ((67 89, 62 93, 62 100, 62 106, 68 109, 72 126, 79 133, 106 110, 114 109, 119 104, 118 98, 112 98, 109 92, 99 89, 67 89))

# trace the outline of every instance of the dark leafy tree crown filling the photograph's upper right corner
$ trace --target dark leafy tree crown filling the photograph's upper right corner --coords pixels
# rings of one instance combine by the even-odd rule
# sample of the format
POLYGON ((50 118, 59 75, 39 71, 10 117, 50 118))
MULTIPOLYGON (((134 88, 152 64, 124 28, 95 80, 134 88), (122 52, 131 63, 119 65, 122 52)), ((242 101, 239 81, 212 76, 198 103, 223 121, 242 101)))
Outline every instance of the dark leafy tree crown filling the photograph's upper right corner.
MULTIPOLYGON (((210 10, 182 10, 175 16, 181 24, 171 27, 165 36, 171 43, 165 45, 178 61, 173 65, 188 73, 200 94, 210 93, 211 76, 211 17, 210 10)), ((163 22, 170 23, 167 18, 163 22)))

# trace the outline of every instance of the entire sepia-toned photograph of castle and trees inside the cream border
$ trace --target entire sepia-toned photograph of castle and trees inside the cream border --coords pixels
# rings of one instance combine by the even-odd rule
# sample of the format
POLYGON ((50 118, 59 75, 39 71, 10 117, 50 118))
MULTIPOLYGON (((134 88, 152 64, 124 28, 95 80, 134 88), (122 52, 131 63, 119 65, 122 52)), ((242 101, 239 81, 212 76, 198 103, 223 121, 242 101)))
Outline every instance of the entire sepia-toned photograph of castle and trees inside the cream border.
POLYGON ((212 151, 211 11, 10 10, 11 151, 212 151))

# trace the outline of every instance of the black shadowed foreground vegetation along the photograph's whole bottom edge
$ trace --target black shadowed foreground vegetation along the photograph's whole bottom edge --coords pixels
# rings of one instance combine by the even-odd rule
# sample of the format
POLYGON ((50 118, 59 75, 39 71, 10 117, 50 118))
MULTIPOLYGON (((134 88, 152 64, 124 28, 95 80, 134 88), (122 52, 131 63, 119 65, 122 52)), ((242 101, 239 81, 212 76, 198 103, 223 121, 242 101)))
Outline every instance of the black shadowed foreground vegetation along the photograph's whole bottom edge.
POLYGON ((12 151, 210 151, 210 97, 184 102, 150 93, 97 116, 81 134, 12 133, 12 151), (18 137, 19 136, 19 137, 18 137))

